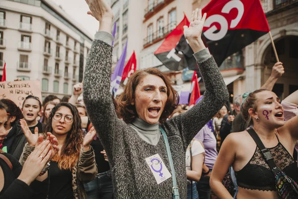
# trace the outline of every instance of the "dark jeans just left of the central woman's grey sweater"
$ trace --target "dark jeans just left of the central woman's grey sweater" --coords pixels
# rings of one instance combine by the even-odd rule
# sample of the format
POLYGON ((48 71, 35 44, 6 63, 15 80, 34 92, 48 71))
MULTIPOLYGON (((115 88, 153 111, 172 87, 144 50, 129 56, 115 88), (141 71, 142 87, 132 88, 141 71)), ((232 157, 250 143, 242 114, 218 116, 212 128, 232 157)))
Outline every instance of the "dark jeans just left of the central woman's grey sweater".
POLYGON ((84 183, 87 199, 113 199, 111 172, 97 174, 94 180, 84 183))

